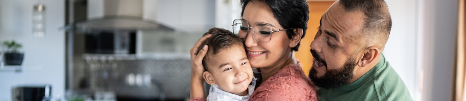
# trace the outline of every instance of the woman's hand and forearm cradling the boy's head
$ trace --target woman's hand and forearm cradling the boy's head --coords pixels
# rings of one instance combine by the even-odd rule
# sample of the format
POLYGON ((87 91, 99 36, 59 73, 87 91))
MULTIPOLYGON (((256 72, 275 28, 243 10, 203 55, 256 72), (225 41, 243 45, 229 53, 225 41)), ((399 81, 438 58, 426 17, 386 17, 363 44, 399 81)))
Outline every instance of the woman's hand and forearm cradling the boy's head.
POLYGON ((212 34, 207 34, 204 37, 200 38, 196 44, 191 48, 191 91, 190 96, 192 98, 206 98, 204 95, 204 79, 202 78, 202 73, 204 72, 204 66, 202 66, 202 59, 206 56, 208 47, 207 45, 203 46, 202 49, 197 53, 202 42, 207 38, 210 38, 212 34))

